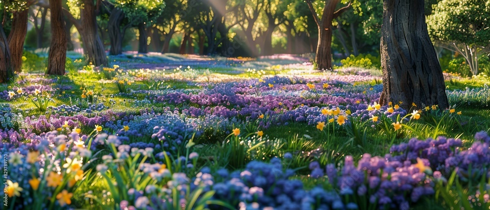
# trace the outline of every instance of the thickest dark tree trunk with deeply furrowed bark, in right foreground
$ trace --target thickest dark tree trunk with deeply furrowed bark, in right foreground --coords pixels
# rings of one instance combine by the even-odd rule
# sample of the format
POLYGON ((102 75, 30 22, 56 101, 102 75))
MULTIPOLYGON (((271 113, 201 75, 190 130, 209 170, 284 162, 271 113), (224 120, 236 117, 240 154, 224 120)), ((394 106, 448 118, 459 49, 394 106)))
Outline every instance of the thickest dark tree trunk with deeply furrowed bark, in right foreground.
POLYGON ((441 66, 427 32, 424 0, 384 0, 383 8, 379 103, 402 101, 407 110, 412 102, 448 108, 441 66))

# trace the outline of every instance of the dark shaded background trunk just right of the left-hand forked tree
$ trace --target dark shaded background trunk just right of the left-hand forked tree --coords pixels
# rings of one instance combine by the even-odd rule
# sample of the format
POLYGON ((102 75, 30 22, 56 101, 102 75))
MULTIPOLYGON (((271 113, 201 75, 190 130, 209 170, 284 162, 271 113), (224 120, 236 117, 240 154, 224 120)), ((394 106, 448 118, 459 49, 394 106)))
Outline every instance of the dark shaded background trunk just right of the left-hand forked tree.
POLYGON ((107 23, 107 29, 109 31, 109 41, 111 43, 111 49, 109 55, 123 54, 123 36, 121 33, 121 22, 123 22, 124 13, 123 10, 114 7, 109 16, 109 22, 107 23))

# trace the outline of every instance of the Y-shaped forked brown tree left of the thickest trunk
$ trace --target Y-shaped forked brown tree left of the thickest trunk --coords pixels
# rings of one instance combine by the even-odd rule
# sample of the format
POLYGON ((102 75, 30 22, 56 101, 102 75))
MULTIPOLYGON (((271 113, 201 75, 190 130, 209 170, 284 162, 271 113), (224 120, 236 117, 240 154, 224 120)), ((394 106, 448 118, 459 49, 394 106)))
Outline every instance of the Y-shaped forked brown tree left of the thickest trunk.
MULTIPOLYGON (((318 26, 318 45, 317 55, 315 56, 316 69, 328 70, 332 69, 332 21, 339 17, 343 12, 348 10, 353 4, 359 6, 359 1, 349 0, 327 0, 321 9, 321 17, 319 17, 318 8, 313 5, 311 0, 306 0, 311 13, 313 14, 315 23, 318 26), (342 4, 343 7, 336 10, 337 5, 342 4)), ((319 3, 316 2, 318 5, 319 3)))

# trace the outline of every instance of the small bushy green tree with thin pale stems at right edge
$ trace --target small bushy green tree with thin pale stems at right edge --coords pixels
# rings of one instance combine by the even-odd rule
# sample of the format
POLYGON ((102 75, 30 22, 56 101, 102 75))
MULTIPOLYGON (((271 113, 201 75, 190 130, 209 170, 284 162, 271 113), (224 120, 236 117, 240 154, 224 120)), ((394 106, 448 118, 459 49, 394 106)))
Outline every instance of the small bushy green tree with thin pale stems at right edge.
POLYGON ((427 24, 434 41, 462 55, 478 74, 479 54, 490 46, 490 0, 441 0, 427 24))

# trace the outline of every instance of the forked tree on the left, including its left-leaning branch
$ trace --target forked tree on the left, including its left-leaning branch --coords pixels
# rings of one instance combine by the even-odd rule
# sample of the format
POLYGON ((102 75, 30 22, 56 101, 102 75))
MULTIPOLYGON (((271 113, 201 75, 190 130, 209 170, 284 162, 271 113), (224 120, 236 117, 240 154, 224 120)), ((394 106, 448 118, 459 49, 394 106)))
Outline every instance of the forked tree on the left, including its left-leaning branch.
POLYGON ((70 19, 80 33, 83 51, 88 62, 95 66, 107 65, 107 56, 97 30, 97 13, 101 0, 69 0, 70 11, 64 9, 63 13, 70 19), (83 4, 83 6, 80 6, 83 4), (79 18, 79 19, 78 19, 79 18))

